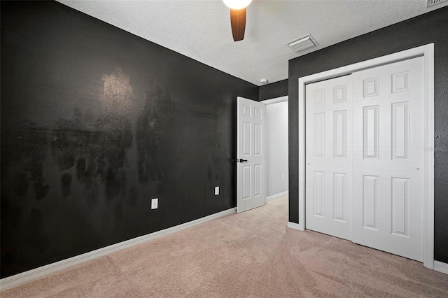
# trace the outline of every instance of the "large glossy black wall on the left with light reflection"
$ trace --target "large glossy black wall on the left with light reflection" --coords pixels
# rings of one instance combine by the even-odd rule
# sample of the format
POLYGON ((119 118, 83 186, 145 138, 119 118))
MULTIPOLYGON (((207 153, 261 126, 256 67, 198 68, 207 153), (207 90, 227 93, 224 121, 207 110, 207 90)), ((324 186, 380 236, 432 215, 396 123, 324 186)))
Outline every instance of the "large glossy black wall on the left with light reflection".
POLYGON ((60 3, 1 1, 1 278, 235 207, 237 96, 258 87, 60 3))

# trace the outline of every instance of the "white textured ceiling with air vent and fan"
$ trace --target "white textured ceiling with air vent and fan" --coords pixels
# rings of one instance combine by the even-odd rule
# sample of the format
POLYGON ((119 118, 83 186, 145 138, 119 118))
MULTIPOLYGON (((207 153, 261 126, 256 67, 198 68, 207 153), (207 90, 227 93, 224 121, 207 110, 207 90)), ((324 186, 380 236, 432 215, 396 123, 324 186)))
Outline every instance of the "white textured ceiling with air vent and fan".
POLYGON ((58 0, 87 15, 180 52, 255 85, 288 78, 288 60, 386 27, 448 2, 426 0, 253 0, 246 34, 234 42, 230 13, 221 0, 58 0), (300 53, 285 43, 312 34, 319 45, 300 53))

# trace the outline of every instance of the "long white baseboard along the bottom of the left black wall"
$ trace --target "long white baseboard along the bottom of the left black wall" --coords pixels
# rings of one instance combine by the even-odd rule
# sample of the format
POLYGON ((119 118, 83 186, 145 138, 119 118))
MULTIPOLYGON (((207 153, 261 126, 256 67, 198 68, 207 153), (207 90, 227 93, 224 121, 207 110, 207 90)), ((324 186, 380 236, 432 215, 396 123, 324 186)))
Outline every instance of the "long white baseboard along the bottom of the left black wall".
POLYGON ((198 218, 197 220, 192 220, 190 222, 183 223, 182 225, 176 225, 174 227, 169 227, 168 229, 162 229, 161 231, 158 231, 158 232, 154 232, 154 233, 147 234, 144 236, 139 236, 137 238, 123 241, 120 243, 116 243, 111 246, 106 246, 105 248, 99 248, 97 250, 92 250, 89 253, 84 253, 83 255, 77 255, 76 257, 70 257, 69 259, 66 259, 66 260, 62 260, 59 262, 45 265, 43 267, 38 267, 36 269, 22 272, 21 274, 16 274, 14 276, 9 276, 7 278, 2 278, 2 279, 0 279, 0 290, 6 290, 9 288, 13 288, 22 283, 28 283, 29 281, 33 281, 36 278, 41 278, 43 276, 47 276, 48 274, 52 274, 57 271, 67 269, 69 267, 76 266, 78 264, 87 262, 87 261, 95 259, 97 257, 109 255, 111 253, 115 253, 118 250, 130 248, 131 246, 136 246, 137 244, 144 243, 146 241, 150 241, 150 240, 158 238, 160 236, 165 236, 168 234, 172 234, 174 232, 179 232, 182 229, 187 229, 189 227, 193 227, 195 225, 200 225, 200 224, 202 224, 204 222, 208 222, 210 220, 215 220, 216 218, 221 218, 225 215, 233 214, 236 212, 236 210, 237 210, 237 208, 230 208, 225 211, 221 211, 221 212, 218 212, 218 213, 215 213, 212 215, 208 215, 204 218, 198 218))

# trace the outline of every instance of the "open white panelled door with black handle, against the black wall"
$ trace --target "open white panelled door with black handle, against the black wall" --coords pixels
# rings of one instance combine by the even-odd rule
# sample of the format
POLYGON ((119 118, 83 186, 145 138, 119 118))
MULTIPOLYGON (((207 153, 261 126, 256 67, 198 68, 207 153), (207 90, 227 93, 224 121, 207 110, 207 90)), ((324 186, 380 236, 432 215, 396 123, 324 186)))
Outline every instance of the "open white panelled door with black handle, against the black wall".
POLYGON ((243 212, 266 203, 266 106, 243 97, 237 102, 237 212, 243 212))

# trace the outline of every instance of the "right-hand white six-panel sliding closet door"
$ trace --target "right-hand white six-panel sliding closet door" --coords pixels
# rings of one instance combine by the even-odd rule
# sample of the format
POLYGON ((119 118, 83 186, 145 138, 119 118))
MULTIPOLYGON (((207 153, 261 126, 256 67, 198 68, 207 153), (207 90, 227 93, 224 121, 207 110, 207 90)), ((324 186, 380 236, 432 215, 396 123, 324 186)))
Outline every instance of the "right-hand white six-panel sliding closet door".
POLYGON ((423 57, 352 81, 352 240, 422 261, 423 57))

